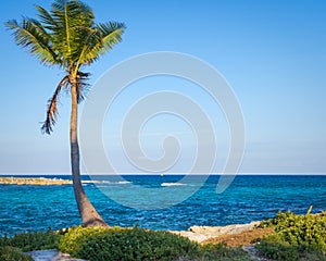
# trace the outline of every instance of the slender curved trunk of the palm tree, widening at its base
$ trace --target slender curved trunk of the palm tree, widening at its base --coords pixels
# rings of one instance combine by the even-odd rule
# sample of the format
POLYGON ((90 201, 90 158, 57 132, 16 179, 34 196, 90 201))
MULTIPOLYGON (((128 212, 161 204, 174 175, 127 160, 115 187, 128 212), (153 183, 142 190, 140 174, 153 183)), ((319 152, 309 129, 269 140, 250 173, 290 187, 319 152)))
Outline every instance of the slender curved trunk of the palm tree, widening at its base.
POLYGON ((95 207, 88 200, 80 181, 79 169, 79 146, 77 138, 77 117, 78 117, 78 102, 77 102, 77 83, 72 80, 72 114, 71 114, 71 163, 74 194, 78 206, 79 214, 82 216, 84 226, 108 226, 95 207))

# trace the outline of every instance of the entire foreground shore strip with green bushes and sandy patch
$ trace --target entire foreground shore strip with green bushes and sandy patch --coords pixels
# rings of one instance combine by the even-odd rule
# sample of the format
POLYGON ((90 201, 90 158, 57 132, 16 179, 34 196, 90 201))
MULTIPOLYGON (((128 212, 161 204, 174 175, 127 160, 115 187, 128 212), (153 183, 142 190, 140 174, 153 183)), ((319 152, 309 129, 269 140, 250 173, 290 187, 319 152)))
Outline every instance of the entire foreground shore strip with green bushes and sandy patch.
POLYGON ((278 212, 247 225, 190 227, 203 235, 128 227, 71 227, 0 237, 0 260, 326 260, 326 212, 278 212), (177 234, 177 235, 176 235, 177 234), (200 243, 199 243, 200 241, 200 243), (51 250, 50 250, 51 249, 51 250), (39 251, 41 250, 41 251, 39 251), (53 259, 52 259, 53 258, 53 259), (45 260, 45 259, 41 259, 45 260))

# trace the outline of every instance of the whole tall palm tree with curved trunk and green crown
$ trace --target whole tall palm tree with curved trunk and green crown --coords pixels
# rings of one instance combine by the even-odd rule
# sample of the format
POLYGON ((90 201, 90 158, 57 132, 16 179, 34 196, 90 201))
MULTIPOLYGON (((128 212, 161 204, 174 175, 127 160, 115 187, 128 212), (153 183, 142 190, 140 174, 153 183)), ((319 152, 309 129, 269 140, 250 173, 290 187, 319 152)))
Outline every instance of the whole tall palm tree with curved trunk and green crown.
POLYGON ((88 200, 80 181, 77 138, 78 103, 84 99, 89 74, 80 69, 97 61, 122 40, 125 25, 95 23, 92 10, 78 0, 54 0, 51 11, 36 5, 39 20, 25 17, 21 23, 7 22, 18 46, 27 48, 43 65, 65 71, 53 96, 48 101, 47 117, 41 130, 51 134, 58 116, 60 91, 70 91, 72 99, 70 141, 74 194, 85 226, 108 226, 88 200))

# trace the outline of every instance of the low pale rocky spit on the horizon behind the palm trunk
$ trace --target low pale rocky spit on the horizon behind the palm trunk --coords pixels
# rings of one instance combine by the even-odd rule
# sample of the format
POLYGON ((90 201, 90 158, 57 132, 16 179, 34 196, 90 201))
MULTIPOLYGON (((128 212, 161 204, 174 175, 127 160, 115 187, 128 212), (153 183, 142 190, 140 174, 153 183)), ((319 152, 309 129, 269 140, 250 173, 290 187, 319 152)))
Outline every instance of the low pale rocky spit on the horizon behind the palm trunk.
MULTIPOLYGON (((98 181, 82 181, 82 183, 100 183, 98 181)), ((73 184, 71 179, 46 178, 46 177, 0 177, 0 184, 4 185, 67 185, 73 184)))

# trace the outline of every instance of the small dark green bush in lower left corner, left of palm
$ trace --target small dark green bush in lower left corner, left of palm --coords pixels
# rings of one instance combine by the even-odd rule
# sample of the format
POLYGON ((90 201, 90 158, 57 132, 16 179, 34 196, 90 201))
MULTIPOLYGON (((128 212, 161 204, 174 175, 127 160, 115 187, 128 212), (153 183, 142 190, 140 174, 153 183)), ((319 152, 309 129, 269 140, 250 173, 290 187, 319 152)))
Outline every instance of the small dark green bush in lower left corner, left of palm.
POLYGON ((1 237, 1 247, 20 248, 23 252, 58 248, 61 235, 51 231, 20 233, 13 237, 1 237))

